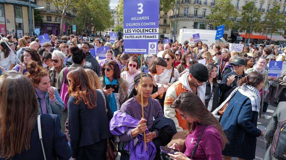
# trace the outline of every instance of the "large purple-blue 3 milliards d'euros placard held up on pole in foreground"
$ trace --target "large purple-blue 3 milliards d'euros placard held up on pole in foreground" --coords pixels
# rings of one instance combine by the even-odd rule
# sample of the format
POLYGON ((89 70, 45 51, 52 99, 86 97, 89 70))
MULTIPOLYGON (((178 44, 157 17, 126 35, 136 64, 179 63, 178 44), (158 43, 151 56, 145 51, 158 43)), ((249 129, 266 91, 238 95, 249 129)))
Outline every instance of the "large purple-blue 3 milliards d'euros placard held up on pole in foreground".
POLYGON ((157 54, 159 0, 123 0, 124 53, 157 54))

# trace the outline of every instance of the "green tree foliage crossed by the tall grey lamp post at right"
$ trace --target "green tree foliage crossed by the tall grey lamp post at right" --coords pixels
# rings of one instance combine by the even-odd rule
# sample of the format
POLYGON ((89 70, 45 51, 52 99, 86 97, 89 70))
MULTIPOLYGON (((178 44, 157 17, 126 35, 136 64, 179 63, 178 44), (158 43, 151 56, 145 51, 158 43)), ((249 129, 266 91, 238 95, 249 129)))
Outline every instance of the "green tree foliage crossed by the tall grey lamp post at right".
MULTIPOLYGON (((250 1, 246 3, 244 6, 242 6, 243 11, 240 14, 241 20, 239 20, 238 23, 239 23, 239 28, 240 28, 239 30, 241 32, 246 31, 245 34, 250 32, 253 5, 254 5, 254 1, 250 1)), ((257 7, 255 7, 251 31, 258 32, 258 33, 261 32, 262 27, 259 21, 260 21, 260 12, 258 11, 257 7)))

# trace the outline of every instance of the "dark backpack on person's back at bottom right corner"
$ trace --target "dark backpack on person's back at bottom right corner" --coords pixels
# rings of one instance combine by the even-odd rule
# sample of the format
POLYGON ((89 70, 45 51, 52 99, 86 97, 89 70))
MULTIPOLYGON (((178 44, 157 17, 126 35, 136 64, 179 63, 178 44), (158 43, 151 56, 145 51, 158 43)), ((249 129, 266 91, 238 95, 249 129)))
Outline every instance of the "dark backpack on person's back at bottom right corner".
POLYGON ((286 160, 286 117, 277 124, 272 139, 271 154, 277 159, 286 160))

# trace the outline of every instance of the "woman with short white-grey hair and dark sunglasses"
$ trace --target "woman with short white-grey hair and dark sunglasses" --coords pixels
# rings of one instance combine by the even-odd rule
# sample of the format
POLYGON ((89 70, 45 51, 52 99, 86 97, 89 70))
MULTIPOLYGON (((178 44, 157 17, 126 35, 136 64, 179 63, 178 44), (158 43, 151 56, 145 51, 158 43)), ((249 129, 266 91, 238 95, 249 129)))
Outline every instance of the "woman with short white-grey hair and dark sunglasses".
POLYGON ((61 69, 66 67, 63 63, 65 61, 65 55, 59 50, 54 50, 50 61, 53 63, 53 67, 49 69, 51 86, 57 87, 57 77, 59 76, 61 69))

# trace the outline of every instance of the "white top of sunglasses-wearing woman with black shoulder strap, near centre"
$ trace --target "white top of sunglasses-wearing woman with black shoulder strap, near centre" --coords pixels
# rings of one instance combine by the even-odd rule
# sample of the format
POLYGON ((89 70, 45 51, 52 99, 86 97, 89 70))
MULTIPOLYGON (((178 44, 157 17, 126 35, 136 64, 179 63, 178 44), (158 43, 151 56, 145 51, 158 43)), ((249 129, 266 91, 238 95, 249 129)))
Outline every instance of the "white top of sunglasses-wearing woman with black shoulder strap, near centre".
MULTIPOLYGON (((170 81, 170 76, 171 76, 171 73, 172 73, 172 68, 171 69, 164 69, 164 73, 161 73, 160 75, 155 75, 154 76, 154 79, 156 81, 156 83, 164 83, 165 85, 167 85, 170 81)), ((174 76, 175 77, 172 77, 171 79, 171 83, 174 83, 176 81, 179 80, 179 77, 180 77, 180 73, 179 71, 174 68, 174 76)))

